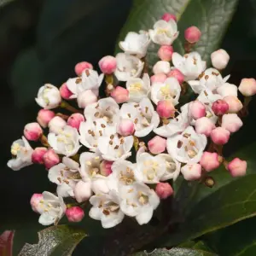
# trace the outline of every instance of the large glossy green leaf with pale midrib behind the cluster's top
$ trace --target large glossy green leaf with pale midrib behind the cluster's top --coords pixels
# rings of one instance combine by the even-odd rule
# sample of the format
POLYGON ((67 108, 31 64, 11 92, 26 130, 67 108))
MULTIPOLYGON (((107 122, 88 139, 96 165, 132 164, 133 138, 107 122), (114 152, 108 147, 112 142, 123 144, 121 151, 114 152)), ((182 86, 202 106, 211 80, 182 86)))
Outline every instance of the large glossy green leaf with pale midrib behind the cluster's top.
MULTIPOLYGON (((135 0, 131 14, 120 33, 119 41, 130 31, 148 30, 164 13, 177 15, 179 38, 173 44, 174 49, 183 54, 183 32, 188 26, 198 26, 202 37, 195 50, 199 51, 204 60, 209 61, 210 54, 218 48, 224 37, 225 30, 236 9, 238 0, 135 0), (195 15, 196 14, 196 15, 195 15)), ((148 53, 148 66, 157 61, 158 45, 151 44, 148 53)))

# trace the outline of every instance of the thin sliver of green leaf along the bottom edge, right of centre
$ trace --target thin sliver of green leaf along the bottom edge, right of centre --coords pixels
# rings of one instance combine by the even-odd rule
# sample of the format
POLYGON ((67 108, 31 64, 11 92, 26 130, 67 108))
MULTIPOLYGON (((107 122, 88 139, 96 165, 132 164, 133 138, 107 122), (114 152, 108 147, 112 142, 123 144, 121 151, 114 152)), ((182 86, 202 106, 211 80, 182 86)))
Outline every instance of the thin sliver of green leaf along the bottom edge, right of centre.
POLYGON ((142 252, 135 253, 133 256, 216 256, 215 253, 209 253, 201 250, 194 250, 188 248, 172 248, 171 250, 167 249, 155 249, 151 253, 142 252))

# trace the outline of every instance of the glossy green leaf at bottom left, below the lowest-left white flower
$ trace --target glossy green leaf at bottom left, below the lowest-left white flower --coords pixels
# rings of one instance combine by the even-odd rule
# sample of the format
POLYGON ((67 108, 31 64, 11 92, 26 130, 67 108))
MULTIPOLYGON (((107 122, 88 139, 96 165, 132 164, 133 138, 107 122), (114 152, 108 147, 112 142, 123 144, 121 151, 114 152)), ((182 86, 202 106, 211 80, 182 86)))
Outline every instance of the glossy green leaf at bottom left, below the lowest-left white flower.
POLYGON ((65 256, 71 255, 74 247, 85 237, 83 230, 67 225, 52 226, 38 232, 38 244, 25 244, 20 256, 65 256))

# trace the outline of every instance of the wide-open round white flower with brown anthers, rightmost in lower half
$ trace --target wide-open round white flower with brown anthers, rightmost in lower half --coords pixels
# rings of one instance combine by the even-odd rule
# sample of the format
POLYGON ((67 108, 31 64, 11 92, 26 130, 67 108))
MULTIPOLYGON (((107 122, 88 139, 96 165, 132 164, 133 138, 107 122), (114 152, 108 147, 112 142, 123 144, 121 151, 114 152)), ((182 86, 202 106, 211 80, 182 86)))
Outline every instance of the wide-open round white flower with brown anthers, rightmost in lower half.
POLYGON ((192 126, 189 126, 182 134, 167 139, 167 151, 179 162, 197 163, 207 146, 207 137, 197 134, 192 126))

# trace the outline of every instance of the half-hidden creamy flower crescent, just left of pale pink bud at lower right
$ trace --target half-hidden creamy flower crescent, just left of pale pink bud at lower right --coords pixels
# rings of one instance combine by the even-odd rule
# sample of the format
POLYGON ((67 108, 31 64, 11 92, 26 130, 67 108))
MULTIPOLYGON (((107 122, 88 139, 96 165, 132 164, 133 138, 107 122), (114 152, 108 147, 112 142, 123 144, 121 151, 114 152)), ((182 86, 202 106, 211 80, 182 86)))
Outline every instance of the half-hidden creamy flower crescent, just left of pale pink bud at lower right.
POLYGON ((166 181, 171 178, 175 181, 179 175, 181 164, 173 159, 170 154, 159 154, 159 156, 166 161, 166 172, 160 177, 160 181, 166 181))

